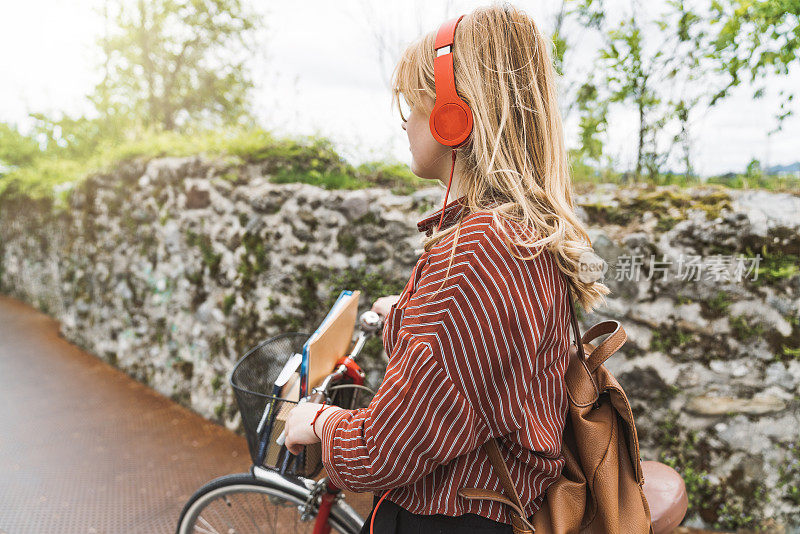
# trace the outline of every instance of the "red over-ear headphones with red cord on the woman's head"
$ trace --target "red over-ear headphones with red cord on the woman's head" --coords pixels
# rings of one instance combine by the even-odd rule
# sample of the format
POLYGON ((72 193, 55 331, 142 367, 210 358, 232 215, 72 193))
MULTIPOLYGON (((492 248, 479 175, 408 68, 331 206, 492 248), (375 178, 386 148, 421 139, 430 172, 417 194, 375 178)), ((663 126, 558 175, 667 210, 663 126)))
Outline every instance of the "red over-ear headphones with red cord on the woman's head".
POLYGON ((447 182, 442 214, 439 217, 439 225, 436 230, 439 230, 442 226, 444 206, 447 205, 447 197, 450 194, 450 184, 453 181, 453 171, 456 167, 455 149, 464 144, 472 132, 472 109, 456 93, 456 75, 453 72, 453 42, 455 41, 456 26, 463 18, 464 15, 461 15, 442 24, 436 33, 436 41, 433 45, 433 49, 436 52, 436 58, 433 60, 436 101, 431 111, 429 125, 431 133, 437 141, 443 145, 453 147, 450 179, 447 182), (440 55, 439 50, 446 46, 449 49, 440 55))

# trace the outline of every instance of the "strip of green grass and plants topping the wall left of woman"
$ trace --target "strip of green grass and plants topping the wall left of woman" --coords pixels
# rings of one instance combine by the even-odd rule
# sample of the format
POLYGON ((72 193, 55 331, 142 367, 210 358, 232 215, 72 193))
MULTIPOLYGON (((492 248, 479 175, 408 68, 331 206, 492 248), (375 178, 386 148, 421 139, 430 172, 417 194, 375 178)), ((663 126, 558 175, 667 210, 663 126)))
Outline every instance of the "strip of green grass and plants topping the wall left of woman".
MULTIPOLYGON (((260 164, 262 171, 277 183, 302 182, 326 189, 387 187, 403 193, 430 185, 400 162, 372 161, 355 167, 336 152, 327 138, 278 137, 260 128, 229 127, 195 133, 148 131, 136 139, 100 143, 91 155, 80 158, 58 147, 37 152, 31 139, 10 129, 0 129, 0 140, 5 139, 4 135, 13 137, 15 144, 6 150, 13 155, 0 152, 0 159, 18 165, 9 166, 5 176, 0 176, 0 195, 11 188, 34 198, 63 196, 89 175, 111 172, 124 161, 195 154, 229 158, 234 166, 260 164)), ((228 171, 223 177, 235 181, 236 175, 228 171)))

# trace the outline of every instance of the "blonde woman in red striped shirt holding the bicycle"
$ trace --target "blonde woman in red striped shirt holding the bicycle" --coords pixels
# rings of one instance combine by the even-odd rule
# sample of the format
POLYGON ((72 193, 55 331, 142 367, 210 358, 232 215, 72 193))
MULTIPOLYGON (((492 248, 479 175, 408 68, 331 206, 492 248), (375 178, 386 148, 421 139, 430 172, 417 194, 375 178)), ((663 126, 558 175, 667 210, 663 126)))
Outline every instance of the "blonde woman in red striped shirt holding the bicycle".
POLYGON ((365 533, 511 532, 506 505, 457 493, 502 491, 481 447, 494 437, 533 515, 563 467, 563 275, 587 311, 608 293, 577 276, 591 246, 574 214, 550 42, 508 5, 461 20, 455 85, 473 129, 451 149, 428 122, 435 36, 408 47, 393 91, 411 107, 402 124, 411 170, 448 183, 455 200, 418 222, 424 252, 403 292, 373 305, 386 315, 389 363, 369 406, 318 413, 319 404, 305 403, 287 422, 292 452, 321 438, 331 483, 375 494, 365 533))

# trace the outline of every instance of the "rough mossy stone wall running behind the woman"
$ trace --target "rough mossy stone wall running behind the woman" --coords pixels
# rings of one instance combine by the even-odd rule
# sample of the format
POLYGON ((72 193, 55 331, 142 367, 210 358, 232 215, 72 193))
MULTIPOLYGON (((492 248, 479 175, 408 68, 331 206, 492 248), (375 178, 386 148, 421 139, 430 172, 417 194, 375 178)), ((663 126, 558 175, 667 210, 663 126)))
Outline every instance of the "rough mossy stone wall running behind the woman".
MULTIPOLYGON (((628 333, 607 367, 633 405, 643 458, 687 482, 684 524, 796 531, 800 198, 606 185, 577 200, 612 289, 581 314, 582 331, 616 319, 628 333), (759 257, 757 278, 720 279, 739 255, 759 257)), ((398 293, 421 253, 415 222, 440 202, 439 188, 326 191, 224 159, 134 160, 90 178, 67 206, 1 198, 0 291, 235 429, 227 380, 239 356, 313 330, 341 289, 362 291, 362 311, 398 293)), ((377 386, 380 340, 363 354, 377 386)))

